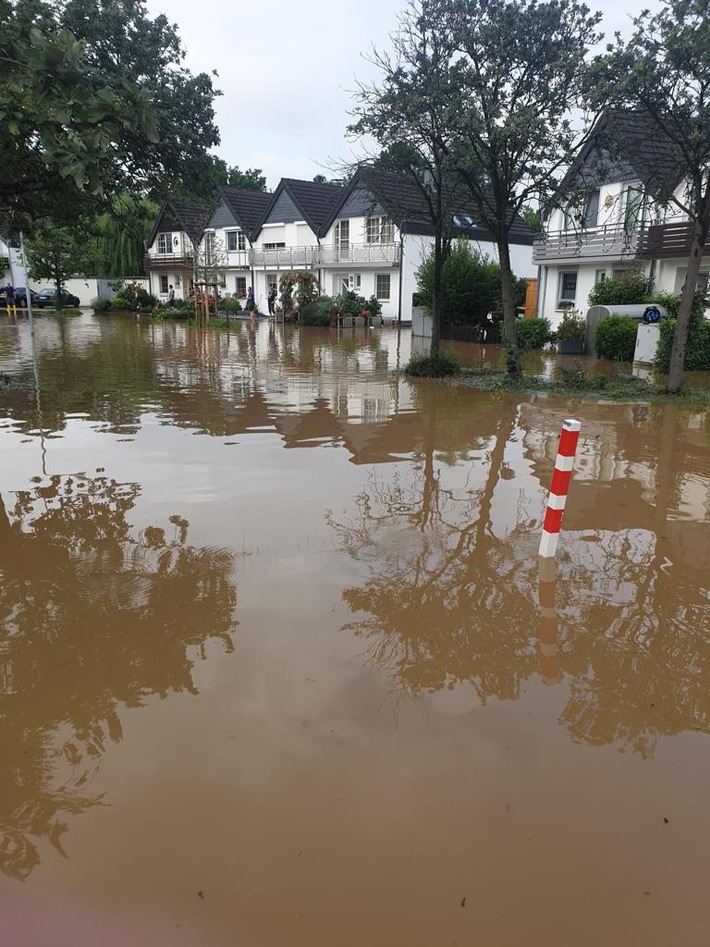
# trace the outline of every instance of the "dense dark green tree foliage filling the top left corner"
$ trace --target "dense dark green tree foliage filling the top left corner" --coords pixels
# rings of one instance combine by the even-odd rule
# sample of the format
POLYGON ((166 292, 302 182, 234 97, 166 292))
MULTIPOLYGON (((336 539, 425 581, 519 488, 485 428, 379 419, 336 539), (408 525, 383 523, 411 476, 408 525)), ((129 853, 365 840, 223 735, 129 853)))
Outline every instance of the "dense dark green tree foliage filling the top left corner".
POLYGON ((105 0, 0 3, 0 211, 73 221, 128 188, 199 189, 219 143, 209 76, 165 16, 105 0))

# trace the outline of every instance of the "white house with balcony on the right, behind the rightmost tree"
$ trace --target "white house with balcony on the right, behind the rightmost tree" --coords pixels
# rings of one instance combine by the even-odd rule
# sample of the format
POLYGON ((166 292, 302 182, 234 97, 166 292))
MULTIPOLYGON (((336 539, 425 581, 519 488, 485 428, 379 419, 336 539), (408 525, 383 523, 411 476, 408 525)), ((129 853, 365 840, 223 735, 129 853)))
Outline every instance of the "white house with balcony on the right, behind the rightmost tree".
MULTIPOLYGON (((685 282, 691 226, 674 146, 654 136, 634 112, 605 113, 563 184, 535 239, 538 314, 558 324, 565 309, 586 313, 602 280, 639 271, 656 291, 679 293, 685 282)), ((707 284, 710 261, 701 272, 707 284)))

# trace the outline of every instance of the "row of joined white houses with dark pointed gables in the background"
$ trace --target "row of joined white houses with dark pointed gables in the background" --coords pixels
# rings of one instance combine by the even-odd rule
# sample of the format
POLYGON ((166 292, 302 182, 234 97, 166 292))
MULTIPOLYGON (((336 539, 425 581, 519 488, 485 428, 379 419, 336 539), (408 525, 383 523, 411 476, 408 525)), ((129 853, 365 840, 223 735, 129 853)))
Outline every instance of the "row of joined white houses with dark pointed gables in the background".
MULTIPOLYGON (((495 244, 471 214, 456 215, 452 233, 497 258, 495 244)), ((516 276, 536 275, 532 242, 532 232, 516 223, 516 276)), ((194 274, 202 273, 225 294, 244 297, 252 286, 264 311, 281 276, 304 270, 314 274, 322 294, 352 290, 374 296, 386 319, 409 322, 417 272, 432 246, 416 188, 402 175, 370 170, 345 187, 284 178, 273 194, 221 188, 209 212, 204 205, 170 201, 153 229, 145 263, 151 292, 161 301, 171 286, 176 298, 186 298, 194 274)))

